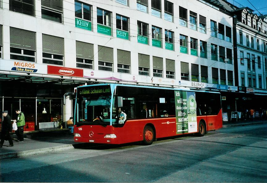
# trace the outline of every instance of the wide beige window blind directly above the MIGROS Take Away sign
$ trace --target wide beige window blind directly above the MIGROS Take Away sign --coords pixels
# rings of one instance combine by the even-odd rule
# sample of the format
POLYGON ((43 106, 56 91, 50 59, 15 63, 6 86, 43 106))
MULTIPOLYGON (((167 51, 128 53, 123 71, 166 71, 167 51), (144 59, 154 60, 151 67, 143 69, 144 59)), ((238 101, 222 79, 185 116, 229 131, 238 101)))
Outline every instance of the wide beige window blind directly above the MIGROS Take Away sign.
POLYGON ((36 50, 36 32, 10 27, 10 47, 36 50))

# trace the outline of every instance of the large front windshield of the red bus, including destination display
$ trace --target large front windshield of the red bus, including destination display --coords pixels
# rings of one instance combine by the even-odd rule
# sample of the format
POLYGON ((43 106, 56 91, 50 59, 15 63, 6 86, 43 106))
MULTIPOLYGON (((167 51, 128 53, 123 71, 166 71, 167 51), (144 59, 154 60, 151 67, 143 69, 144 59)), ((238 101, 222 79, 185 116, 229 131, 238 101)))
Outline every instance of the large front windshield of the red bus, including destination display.
POLYGON ((109 125, 110 87, 106 85, 78 88, 77 92, 78 123, 109 125))

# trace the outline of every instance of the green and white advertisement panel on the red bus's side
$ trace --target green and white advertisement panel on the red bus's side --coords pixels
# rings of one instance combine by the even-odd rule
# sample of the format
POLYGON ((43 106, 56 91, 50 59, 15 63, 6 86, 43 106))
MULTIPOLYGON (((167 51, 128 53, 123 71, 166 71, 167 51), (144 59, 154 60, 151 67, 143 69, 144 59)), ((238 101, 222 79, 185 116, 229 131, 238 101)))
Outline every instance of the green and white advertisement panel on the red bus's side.
POLYGON ((197 132, 195 92, 175 91, 176 134, 197 132))

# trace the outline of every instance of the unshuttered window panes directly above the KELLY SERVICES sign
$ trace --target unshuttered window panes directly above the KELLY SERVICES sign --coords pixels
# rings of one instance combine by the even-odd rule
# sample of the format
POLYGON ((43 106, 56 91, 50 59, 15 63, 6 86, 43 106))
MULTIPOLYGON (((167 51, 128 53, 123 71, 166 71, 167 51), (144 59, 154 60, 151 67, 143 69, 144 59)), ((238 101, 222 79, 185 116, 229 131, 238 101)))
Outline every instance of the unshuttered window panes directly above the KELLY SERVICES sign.
POLYGON ((91 21, 92 6, 75 0, 75 17, 91 21))

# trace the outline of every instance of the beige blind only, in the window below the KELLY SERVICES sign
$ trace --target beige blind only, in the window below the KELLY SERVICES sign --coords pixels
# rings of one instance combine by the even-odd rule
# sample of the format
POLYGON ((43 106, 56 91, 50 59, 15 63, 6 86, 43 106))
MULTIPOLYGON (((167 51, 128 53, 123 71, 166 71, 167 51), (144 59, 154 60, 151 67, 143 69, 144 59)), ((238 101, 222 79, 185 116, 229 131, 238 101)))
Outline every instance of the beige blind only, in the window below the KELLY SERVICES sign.
POLYGON ((91 43, 76 41, 76 57, 94 60, 94 45, 91 43))

